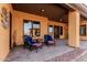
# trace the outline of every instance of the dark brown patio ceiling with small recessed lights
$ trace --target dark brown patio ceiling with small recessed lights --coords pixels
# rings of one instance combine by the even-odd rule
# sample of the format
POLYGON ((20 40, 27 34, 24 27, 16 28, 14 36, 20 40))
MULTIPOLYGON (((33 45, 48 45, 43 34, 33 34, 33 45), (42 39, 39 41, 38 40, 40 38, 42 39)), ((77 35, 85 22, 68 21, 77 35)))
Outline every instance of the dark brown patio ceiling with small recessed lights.
POLYGON ((14 10, 46 17, 52 21, 68 22, 68 9, 53 3, 13 3, 14 10))

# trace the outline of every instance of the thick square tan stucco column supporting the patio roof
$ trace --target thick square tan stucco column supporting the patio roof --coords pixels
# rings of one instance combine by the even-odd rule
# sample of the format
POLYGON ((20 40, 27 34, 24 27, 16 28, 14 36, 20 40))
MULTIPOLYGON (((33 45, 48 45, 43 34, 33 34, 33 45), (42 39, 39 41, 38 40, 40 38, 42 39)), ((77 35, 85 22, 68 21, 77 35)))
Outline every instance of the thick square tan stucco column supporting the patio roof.
POLYGON ((79 12, 68 13, 68 45, 79 47, 79 12))

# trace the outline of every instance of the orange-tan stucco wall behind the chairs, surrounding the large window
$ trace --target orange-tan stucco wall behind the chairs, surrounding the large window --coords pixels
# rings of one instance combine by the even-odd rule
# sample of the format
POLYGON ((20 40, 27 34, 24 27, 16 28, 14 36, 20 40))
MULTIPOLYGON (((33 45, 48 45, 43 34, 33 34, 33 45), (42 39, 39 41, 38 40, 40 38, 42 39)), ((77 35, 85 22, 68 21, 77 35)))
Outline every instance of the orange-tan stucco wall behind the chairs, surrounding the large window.
MULTIPOLYGON (((44 34, 47 34, 48 24, 62 25, 63 28, 65 28, 65 25, 66 25, 64 23, 48 21, 47 18, 43 18, 40 15, 24 13, 24 12, 14 10, 13 11, 12 35, 14 34, 13 32, 17 32, 17 34, 15 34, 17 45, 23 44, 23 20, 32 20, 32 21, 40 21, 41 22, 41 36, 39 36, 39 37, 43 37, 44 34)), ((64 34, 61 37, 63 39, 64 34)))

